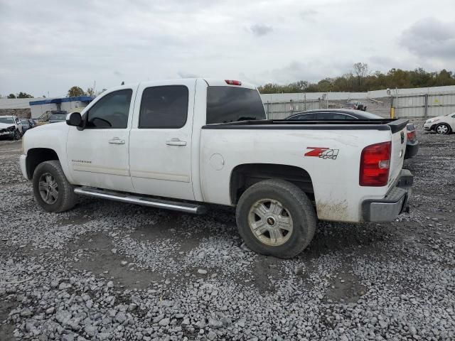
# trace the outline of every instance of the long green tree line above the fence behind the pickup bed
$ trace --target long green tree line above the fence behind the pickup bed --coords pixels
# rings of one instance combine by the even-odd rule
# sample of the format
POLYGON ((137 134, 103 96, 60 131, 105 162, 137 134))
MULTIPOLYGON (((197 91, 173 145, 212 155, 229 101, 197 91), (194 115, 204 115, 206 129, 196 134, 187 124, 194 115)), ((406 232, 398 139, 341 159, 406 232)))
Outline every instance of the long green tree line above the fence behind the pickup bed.
POLYGON ((287 85, 268 83, 258 87, 262 94, 281 92, 357 92, 408 87, 439 87, 455 85, 454 72, 441 70, 427 72, 422 67, 415 70, 390 69, 387 73, 368 72, 368 65, 356 63, 353 71, 334 78, 324 78, 319 82, 299 80, 287 85))

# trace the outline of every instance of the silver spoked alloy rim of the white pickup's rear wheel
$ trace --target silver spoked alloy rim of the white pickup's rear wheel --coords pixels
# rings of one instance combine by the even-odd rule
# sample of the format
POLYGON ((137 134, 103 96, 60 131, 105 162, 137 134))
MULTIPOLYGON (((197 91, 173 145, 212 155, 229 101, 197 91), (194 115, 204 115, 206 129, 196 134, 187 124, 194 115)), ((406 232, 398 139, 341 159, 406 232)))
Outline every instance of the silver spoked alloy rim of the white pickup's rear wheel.
POLYGON ((257 200, 248 213, 248 225, 259 242, 271 247, 286 243, 294 228, 289 210, 274 199, 257 200))

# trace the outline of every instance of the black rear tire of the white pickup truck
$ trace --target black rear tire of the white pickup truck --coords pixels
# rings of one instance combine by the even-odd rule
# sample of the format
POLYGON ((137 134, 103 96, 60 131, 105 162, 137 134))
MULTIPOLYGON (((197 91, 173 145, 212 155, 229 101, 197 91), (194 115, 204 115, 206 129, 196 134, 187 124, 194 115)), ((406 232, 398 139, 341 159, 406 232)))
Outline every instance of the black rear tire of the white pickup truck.
MULTIPOLYGON (((255 183, 255 185, 245 190, 245 193, 242 194, 237 203, 235 217, 240 235, 252 251, 279 258, 291 258, 301 253, 309 245, 311 239, 313 239, 316 230, 316 213, 309 198, 293 183, 279 179, 264 180, 255 183), (267 200, 272 202, 276 200, 275 202, 282 204, 283 211, 279 215, 273 215, 272 205, 275 204, 271 203, 267 207, 267 200), (286 232, 284 237, 282 236, 283 238, 280 239, 282 244, 277 242, 279 239, 274 237, 277 234, 272 234, 272 230, 270 232, 264 232, 259 237, 256 237, 255 233, 253 233, 253 227, 250 227, 250 221, 252 221, 253 217, 254 219, 259 218, 259 220, 252 224, 259 223, 261 226, 264 226, 263 217, 259 217, 255 213, 257 212, 257 207, 261 205, 260 202, 264 202, 264 207, 269 209, 264 216, 272 215, 265 220, 267 222, 265 229, 275 229, 279 221, 278 217, 291 217, 291 232, 287 232, 286 229, 282 230, 282 232, 286 232), (290 233, 289 236, 288 233, 290 233), (260 240, 260 238, 267 240, 267 234, 272 244, 274 243, 276 245, 267 244, 267 242, 260 240)), ((279 234, 281 235, 282 232, 279 232, 279 234)))

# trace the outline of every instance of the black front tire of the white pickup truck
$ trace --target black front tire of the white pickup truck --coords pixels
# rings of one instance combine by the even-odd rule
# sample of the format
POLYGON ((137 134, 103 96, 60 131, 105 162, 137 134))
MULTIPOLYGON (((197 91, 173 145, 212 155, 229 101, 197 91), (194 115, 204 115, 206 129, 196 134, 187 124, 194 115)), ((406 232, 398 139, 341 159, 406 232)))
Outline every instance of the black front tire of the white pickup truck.
MULTIPOLYGON (((53 188, 53 186, 50 185, 49 188, 53 188)), ((74 186, 68 183, 62 166, 57 160, 45 161, 36 167, 33 172, 33 194, 38 204, 43 207, 43 210, 48 212, 65 212, 77 204, 74 186), (55 194, 48 195, 49 200, 46 202, 45 195, 42 194, 44 192, 43 187, 40 189, 40 182, 43 185, 48 175, 53 179, 52 184, 56 183, 55 188, 58 191, 56 192, 56 197, 55 194), (55 202, 52 202, 53 200, 55 202)))

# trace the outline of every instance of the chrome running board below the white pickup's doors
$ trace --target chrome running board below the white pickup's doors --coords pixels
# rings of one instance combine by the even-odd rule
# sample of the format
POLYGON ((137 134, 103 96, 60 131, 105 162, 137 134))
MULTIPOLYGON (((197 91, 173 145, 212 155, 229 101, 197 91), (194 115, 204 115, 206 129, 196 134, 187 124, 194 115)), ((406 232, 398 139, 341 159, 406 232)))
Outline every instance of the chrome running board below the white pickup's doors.
POLYGON ((205 212, 207 212, 207 207, 203 205, 156 199, 155 197, 131 195, 129 193, 120 193, 110 190, 100 190, 98 188, 78 187, 75 188, 74 193, 77 195, 87 195, 89 197, 99 197, 100 199, 127 202, 129 204, 193 213, 196 215, 203 215, 205 212))

